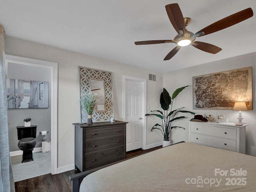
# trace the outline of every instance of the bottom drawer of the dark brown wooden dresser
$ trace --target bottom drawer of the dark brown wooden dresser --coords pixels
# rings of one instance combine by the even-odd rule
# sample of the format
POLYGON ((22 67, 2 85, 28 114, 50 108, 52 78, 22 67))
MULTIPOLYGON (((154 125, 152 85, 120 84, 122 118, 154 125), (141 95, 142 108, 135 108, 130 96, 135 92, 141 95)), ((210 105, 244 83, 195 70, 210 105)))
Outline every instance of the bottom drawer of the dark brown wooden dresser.
POLYGON ((124 146, 85 154, 85 170, 122 160, 125 158, 124 146))

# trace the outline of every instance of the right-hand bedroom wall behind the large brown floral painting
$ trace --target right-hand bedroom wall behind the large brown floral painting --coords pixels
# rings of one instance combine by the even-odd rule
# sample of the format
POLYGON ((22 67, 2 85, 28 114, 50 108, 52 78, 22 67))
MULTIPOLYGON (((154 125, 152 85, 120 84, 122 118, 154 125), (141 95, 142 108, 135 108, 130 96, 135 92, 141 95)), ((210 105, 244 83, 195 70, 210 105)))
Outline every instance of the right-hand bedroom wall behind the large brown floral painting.
MULTIPOLYGON (((191 61, 193 62, 193 61, 191 61)), ((192 77, 204 74, 210 74, 215 72, 221 72, 226 70, 238 69, 243 67, 252 66, 252 102, 253 110, 242 112, 243 122, 247 122, 249 126, 246 127, 246 154, 256 156, 256 98, 255 98, 255 72, 256 72, 256 54, 245 54, 242 56, 236 56, 216 62, 210 62, 174 72, 165 73, 163 75, 164 88, 171 94, 176 88, 191 85, 184 89, 174 101, 175 108, 186 107, 186 110, 191 110, 196 113, 206 114, 207 116, 216 116, 217 112, 224 112, 229 122, 237 122, 238 112, 232 110, 193 110, 192 103, 192 77)), ((191 117, 191 116, 189 116, 191 117)), ((192 116, 193 117, 193 116, 192 116)), ((180 140, 188 141, 188 120, 177 121, 176 124, 182 125, 186 130, 176 129, 172 130, 171 139, 173 142, 179 142, 180 140)))

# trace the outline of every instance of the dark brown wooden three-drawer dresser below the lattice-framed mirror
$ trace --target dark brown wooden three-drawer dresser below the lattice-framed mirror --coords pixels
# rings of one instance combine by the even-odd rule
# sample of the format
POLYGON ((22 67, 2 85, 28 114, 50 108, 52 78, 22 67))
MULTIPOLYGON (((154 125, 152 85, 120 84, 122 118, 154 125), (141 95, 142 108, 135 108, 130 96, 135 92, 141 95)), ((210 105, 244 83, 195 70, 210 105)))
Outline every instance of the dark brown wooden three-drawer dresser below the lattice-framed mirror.
POLYGON ((126 123, 97 122, 75 126, 75 166, 81 172, 125 159, 126 123))

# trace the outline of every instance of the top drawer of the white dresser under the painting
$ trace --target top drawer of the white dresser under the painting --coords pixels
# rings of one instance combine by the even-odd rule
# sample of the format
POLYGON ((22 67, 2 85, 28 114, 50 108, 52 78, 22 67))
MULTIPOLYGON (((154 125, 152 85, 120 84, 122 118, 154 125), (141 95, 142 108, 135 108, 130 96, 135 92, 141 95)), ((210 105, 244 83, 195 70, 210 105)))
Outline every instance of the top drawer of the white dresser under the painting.
POLYGON ((236 129, 232 129, 232 128, 223 128, 223 127, 220 128, 215 126, 191 124, 190 132, 228 138, 228 139, 236 139, 236 129))

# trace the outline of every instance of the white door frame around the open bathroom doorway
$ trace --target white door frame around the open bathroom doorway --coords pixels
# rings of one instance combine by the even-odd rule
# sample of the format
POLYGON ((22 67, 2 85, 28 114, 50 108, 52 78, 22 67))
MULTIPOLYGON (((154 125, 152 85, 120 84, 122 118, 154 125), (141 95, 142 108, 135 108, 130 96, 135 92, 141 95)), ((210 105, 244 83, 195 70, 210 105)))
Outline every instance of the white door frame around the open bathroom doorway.
POLYGON ((51 70, 51 174, 58 168, 58 63, 5 54, 6 74, 8 62, 38 66, 51 70))

